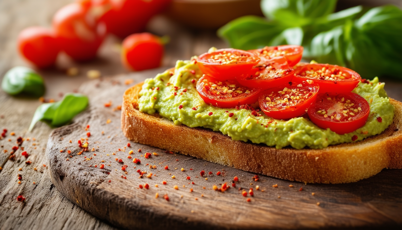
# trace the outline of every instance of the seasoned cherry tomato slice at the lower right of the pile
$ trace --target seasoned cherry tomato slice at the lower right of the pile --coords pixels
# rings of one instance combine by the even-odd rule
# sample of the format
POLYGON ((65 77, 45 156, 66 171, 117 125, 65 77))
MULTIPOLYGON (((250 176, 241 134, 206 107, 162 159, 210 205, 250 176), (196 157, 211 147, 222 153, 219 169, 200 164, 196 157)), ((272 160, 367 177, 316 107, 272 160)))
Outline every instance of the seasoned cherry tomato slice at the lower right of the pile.
POLYGON ((356 93, 321 94, 308 109, 310 120, 338 134, 351 133, 369 117, 369 103, 356 93))

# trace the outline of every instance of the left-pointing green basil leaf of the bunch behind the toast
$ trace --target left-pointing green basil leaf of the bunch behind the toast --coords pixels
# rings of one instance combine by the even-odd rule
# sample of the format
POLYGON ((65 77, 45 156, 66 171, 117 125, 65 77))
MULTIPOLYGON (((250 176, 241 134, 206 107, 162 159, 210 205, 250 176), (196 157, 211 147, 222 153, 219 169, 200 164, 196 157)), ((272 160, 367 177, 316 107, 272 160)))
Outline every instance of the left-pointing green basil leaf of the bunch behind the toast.
POLYGON ((284 29, 283 25, 261 17, 244 16, 218 29, 217 35, 226 39, 232 48, 252 50, 267 46, 284 29))

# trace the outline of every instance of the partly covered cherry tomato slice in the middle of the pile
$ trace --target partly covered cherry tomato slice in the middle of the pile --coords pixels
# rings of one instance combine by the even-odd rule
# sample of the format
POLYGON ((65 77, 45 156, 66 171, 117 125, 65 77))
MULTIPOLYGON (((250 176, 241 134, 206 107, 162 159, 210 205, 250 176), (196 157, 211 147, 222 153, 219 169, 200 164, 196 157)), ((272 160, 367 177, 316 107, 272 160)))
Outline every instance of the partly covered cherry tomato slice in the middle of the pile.
POLYGON ((263 66, 253 67, 249 74, 238 77, 237 81, 250 88, 269 89, 286 85, 292 80, 293 73, 286 58, 276 57, 263 66))

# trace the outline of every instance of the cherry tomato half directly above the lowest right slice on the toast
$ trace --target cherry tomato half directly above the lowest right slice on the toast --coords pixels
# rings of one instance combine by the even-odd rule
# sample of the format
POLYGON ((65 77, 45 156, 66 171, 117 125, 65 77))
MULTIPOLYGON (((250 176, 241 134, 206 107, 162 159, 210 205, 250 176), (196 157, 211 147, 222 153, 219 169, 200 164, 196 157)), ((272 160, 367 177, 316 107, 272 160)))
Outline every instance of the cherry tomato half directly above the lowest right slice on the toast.
POLYGON ((320 85, 320 93, 347 93, 361 80, 355 71, 330 64, 301 65, 295 69, 295 76, 314 80, 320 85))

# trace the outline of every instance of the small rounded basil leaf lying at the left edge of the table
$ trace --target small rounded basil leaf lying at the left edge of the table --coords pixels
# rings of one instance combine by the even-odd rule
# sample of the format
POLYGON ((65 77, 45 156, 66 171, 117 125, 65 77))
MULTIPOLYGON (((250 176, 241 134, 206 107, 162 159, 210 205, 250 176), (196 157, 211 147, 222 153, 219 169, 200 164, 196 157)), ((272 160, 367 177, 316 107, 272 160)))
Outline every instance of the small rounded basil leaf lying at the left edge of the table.
POLYGON ((43 78, 31 68, 16 66, 4 75, 2 89, 10 95, 40 97, 45 93, 43 78))

